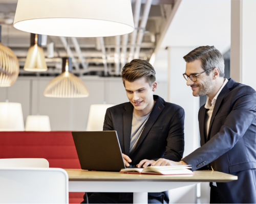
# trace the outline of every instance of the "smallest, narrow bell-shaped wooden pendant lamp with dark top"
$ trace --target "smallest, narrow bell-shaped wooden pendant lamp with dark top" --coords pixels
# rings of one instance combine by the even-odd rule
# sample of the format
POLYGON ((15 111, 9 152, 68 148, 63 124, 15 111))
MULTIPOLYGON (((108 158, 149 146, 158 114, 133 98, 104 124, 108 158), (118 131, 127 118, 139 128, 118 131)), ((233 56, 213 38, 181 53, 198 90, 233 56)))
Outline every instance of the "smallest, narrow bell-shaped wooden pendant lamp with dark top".
POLYGON ((26 71, 46 71, 47 65, 45 60, 44 49, 41 47, 42 36, 39 34, 30 35, 30 48, 24 70, 26 71))

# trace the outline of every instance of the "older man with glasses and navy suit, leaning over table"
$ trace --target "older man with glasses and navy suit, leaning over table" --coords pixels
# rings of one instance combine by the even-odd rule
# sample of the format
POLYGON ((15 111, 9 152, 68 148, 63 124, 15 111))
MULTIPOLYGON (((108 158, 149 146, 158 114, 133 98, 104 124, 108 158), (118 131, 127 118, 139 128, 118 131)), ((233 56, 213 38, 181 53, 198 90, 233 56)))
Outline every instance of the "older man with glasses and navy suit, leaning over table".
POLYGON ((224 60, 214 46, 183 58, 187 86, 194 96, 208 96, 198 114, 201 147, 180 162, 161 159, 152 165, 190 164, 192 170, 205 166, 237 175, 237 181, 210 183, 210 203, 256 203, 255 90, 224 79, 224 60))

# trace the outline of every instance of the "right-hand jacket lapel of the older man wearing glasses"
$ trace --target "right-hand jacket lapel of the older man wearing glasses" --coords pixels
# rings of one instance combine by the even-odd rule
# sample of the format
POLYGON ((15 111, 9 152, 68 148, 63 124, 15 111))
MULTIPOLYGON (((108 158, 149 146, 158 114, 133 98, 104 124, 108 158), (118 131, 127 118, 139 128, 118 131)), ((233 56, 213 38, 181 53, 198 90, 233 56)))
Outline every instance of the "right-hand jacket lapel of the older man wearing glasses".
POLYGON ((216 104, 215 104, 215 107, 214 107, 214 111, 212 112, 212 115, 211 115, 211 118, 210 118, 210 125, 209 125, 207 141, 209 141, 209 139, 210 139, 211 125, 212 125, 212 122, 214 122, 214 118, 215 118, 215 116, 216 116, 216 114, 217 114, 217 112, 220 108, 221 102, 222 102, 224 96, 229 92, 229 89, 233 87, 234 83, 235 82, 230 78, 228 80, 228 83, 226 84, 226 86, 223 87, 220 94, 218 95, 218 98, 216 100, 216 104))

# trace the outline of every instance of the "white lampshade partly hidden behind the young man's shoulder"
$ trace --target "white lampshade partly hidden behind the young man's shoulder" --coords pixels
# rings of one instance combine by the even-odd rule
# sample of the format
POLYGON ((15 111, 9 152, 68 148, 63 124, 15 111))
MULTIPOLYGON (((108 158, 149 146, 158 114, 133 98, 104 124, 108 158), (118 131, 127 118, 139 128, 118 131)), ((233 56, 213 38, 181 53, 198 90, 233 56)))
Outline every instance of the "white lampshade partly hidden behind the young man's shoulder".
POLYGON ((115 105, 113 104, 91 105, 88 122, 87 122, 87 131, 102 131, 106 109, 112 106, 115 106, 115 105))

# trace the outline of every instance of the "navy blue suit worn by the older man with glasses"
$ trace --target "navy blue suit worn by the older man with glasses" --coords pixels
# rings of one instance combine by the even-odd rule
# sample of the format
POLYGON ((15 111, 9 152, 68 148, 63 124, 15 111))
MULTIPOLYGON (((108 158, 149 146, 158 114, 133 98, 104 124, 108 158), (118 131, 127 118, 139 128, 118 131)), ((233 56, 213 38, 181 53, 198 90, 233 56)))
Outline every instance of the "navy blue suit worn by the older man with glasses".
POLYGON ((183 161, 197 170, 210 164, 216 171, 238 175, 217 183, 221 203, 256 203, 256 92, 232 79, 220 92, 204 135, 206 109, 199 110, 201 147, 183 161))

